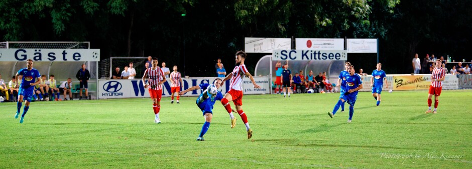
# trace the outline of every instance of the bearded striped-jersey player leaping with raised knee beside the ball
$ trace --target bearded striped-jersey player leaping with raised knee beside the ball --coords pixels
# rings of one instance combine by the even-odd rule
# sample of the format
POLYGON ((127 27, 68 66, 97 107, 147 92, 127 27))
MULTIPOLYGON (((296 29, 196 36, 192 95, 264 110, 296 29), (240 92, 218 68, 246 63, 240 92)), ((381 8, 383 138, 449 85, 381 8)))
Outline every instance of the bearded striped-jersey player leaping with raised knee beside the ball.
POLYGON ((231 118, 231 128, 234 128, 234 126, 236 125, 236 119, 234 118, 231 112, 231 106, 229 105, 229 102, 232 101, 234 103, 234 106, 236 107, 238 114, 241 116, 241 119, 246 125, 246 131, 248 132, 248 139, 250 139, 253 136, 253 130, 251 130, 251 128, 249 127, 248 117, 243 111, 242 85, 243 85, 244 77, 247 76, 251 79, 251 82, 253 82, 254 88, 259 89, 261 87, 256 84, 254 77, 248 72, 246 65, 244 65, 244 60, 246 60, 247 56, 248 55, 243 51, 236 52, 236 56, 235 56, 236 67, 234 67, 234 69, 232 70, 232 73, 228 74, 221 82, 221 86, 223 86, 223 83, 226 80, 231 79, 229 81, 230 83, 229 91, 224 95, 224 98, 221 99, 221 104, 229 113, 229 117, 231 118))

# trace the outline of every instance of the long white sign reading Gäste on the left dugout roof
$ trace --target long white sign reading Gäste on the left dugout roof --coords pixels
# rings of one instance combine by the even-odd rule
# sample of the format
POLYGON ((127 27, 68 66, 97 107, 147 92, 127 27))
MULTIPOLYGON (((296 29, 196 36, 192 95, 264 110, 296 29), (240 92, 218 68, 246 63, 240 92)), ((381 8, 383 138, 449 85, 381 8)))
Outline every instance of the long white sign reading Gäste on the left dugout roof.
POLYGON ((0 49, 0 62, 26 61, 85 62, 100 61, 100 49, 0 49))

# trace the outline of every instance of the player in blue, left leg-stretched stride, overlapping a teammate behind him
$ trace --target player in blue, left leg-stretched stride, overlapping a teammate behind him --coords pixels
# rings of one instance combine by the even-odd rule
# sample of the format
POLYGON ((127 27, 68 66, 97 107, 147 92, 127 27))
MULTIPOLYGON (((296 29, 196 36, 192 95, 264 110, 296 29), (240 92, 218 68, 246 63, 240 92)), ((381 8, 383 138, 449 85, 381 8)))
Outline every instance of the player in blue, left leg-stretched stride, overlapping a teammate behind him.
POLYGON ((328 115, 329 117, 333 118, 334 114, 336 114, 336 111, 339 109, 339 106, 341 106, 343 102, 347 101, 347 104, 349 104, 349 119, 347 122, 350 123, 352 120, 352 115, 354 114, 354 104, 358 98, 358 90, 362 89, 362 80, 361 76, 354 73, 354 66, 349 65, 347 67, 347 72, 348 74, 345 75, 346 86, 344 88, 343 94, 339 96, 339 100, 334 106, 333 112, 328 112, 328 115))

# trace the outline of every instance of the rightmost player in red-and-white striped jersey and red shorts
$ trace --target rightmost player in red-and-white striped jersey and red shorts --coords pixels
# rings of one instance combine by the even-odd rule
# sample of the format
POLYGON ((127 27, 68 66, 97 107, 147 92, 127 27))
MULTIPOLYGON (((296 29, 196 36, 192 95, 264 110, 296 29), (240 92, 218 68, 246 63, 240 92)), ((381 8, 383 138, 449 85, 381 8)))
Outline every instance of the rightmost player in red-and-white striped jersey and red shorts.
POLYGON ((442 81, 445 79, 446 70, 441 67, 441 60, 436 60, 436 68, 433 69, 431 73, 431 85, 429 86, 429 94, 428 94, 428 107, 429 109, 426 113, 431 113, 431 98, 434 95, 434 110, 433 113, 436 113, 437 105, 439 104, 439 95, 441 95, 442 91, 442 81))

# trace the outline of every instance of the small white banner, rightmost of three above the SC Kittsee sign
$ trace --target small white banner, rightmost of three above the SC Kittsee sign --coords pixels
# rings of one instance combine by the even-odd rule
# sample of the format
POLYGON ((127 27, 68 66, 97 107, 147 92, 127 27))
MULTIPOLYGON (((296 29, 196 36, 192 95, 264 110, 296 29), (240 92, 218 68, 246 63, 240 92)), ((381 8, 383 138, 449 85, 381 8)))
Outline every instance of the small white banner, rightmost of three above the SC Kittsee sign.
POLYGON ((347 53, 377 53, 377 39, 347 39, 347 53))

